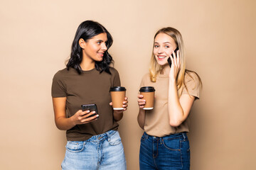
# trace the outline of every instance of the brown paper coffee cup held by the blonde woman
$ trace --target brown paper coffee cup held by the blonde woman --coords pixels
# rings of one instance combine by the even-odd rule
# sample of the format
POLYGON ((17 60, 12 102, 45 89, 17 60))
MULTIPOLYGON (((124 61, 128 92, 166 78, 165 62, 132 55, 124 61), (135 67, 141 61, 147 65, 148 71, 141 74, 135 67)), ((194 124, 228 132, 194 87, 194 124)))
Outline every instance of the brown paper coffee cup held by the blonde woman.
POLYGON ((146 104, 144 105, 144 110, 151 110, 154 107, 154 89, 153 86, 143 86, 139 89, 140 94, 143 95, 142 99, 146 100, 146 104))

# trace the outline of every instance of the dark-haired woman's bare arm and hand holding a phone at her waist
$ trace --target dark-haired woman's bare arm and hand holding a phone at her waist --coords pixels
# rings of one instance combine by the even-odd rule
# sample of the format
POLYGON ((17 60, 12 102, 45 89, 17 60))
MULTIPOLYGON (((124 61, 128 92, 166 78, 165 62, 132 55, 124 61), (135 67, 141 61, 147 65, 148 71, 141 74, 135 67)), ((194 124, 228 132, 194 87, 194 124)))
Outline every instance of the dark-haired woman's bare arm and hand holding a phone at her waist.
POLYGON ((98 115, 94 115, 90 118, 88 116, 94 114, 95 112, 90 111, 82 111, 79 110, 75 113, 75 115, 71 116, 70 118, 66 117, 65 112, 65 103, 67 98, 53 98, 53 110, 54 110, 54 118, 55 118, 55 125, 60 130, 70 130, 75 125, 89 123, 92 120, 95 120, 98 115))

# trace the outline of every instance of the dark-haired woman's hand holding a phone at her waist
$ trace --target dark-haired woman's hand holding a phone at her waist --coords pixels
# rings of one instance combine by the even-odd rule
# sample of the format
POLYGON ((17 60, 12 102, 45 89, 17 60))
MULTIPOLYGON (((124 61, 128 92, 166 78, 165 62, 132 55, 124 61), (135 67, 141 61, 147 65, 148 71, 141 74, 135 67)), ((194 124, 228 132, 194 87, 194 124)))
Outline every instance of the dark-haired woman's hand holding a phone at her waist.
POLYGON ((93 120, 96 120, 97 117, 99 117, 99 115, 94 115, 88 118, 90 115, 93 115, 93 114, 95 114, 95 111, 90 112, 90 111, 79 110, 71 118, 73 120, 74 125, 82 125, 85 123, 90 123, 93 120))

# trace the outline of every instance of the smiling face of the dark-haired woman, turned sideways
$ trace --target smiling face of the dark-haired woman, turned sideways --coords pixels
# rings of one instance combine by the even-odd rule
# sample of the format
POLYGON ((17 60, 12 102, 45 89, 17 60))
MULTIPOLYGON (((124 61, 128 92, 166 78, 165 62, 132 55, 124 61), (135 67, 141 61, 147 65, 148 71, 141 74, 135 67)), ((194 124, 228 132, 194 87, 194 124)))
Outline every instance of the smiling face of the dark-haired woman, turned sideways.
POLYGON ((107 33, 100 33, 91 39, 84 41, 80 39, 80 47, 82 47, 82 60, 89 62, 101 62, 106 46, 107 33))

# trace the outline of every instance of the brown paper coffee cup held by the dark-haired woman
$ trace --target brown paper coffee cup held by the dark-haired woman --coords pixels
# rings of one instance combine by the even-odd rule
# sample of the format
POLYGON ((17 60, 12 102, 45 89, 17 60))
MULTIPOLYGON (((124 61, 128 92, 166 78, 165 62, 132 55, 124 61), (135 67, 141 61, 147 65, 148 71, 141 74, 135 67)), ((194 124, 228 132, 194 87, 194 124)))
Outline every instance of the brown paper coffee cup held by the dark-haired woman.
POLYGON ((123 86, 114 86, 110 88, 110 95, 113 103, 114 110, 123 110, 123 101, 125 98, 125 87, 123 86))

